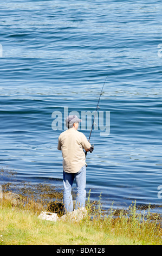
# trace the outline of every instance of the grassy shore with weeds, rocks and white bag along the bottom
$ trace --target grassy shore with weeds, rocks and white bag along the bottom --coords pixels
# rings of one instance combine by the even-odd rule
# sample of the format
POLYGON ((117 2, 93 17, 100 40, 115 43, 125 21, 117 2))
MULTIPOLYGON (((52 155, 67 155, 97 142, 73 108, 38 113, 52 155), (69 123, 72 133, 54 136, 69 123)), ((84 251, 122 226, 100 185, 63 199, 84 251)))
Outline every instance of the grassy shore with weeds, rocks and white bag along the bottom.
MULTIPOLYGON (((47 194, 44 186, 40 190, 42 199, 47 194)), ((0 245, 161 245, 161 218, 138 213, 135 203, 127 210, 105 212, 100 202, 88 198, 86 208, 64 214, 60 204, 40 204, 33 200, 34 195, 30 199, 3 193, 0 245)))

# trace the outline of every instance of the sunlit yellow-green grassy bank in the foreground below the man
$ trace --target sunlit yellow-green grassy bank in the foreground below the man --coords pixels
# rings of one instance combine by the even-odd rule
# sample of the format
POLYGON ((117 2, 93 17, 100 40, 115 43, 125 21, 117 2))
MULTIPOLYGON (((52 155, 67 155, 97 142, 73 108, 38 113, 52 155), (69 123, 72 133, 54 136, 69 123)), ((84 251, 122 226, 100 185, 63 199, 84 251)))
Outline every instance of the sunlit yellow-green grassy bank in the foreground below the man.
MULTIPOLYGON (((29 207, 30 205, 30 207, 29 207)), ((161 229, 156 221, 137 214, 132 205, 129 216, 120 212, 103 217, 88 203, 87 217, 79 222, 44 221, 38 218, 40 208, 12 207, 0 203, 0 245, 161 245, 161 229), (92 220, 93 214, 93 220, 92 220)))

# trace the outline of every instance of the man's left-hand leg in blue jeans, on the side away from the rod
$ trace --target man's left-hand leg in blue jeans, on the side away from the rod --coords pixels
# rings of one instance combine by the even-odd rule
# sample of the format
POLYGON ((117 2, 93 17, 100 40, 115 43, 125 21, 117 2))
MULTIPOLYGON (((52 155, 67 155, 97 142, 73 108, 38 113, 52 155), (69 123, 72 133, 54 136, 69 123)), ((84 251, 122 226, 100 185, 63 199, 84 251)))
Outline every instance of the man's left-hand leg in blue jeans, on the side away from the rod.
POLYGON ((73 211, 72 186, 74 181, 73 173, 63 172, 63 204, 66 213, 73 211))

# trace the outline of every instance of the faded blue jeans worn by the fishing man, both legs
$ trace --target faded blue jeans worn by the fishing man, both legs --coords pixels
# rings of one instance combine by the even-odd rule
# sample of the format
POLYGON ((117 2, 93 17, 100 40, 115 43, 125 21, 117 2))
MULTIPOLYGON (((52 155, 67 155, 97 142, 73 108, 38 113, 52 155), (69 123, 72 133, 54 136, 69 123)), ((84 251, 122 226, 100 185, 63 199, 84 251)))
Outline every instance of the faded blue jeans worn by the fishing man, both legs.
POLYGON ((66 173, 63 171, 63 204, 66 213, 73 211, 72 186, 76 180, 76 205, 75 210, 85 207, 86 203, 86 166, 83 166, 77 173, 66 173))

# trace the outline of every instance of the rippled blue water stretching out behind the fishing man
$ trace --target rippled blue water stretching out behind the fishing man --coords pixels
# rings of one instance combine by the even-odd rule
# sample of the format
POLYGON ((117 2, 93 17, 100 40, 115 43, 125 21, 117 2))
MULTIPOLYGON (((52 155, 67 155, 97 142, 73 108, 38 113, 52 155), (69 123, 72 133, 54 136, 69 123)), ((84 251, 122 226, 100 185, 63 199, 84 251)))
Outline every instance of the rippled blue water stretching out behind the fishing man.
POLYGON ((92 132, 87 192, 94 200, 102 192, 105 207, 161 205, 161 1, 5 0, 0 8, 0 166, 20 182, 62 185, 62 131, 51 114, 95 111, 107 76, 100 111, 110 112, 110 133, 92 132))

